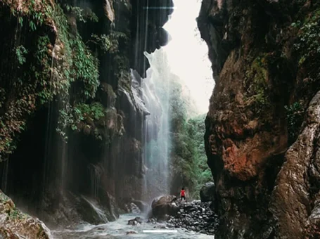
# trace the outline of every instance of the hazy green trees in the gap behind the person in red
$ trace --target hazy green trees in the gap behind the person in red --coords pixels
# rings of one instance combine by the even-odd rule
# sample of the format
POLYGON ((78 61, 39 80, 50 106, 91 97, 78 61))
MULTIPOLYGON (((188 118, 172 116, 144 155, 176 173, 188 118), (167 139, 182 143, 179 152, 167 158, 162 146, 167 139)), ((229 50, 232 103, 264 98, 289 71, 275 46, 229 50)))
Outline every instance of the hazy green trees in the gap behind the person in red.
MULTIPOLYGON (((205 115, 189 118, 193 112, 192 103, 182 92, 179 79, 172 76, 167 84, 158 84, 160 101, 165 102, 169 96, 169 157, 171 162, 172 185, 185 186, 191 198, 199 198, 200 188, 212 181, 212 174, 207 166, 204 146, 205 115), (169 91, 167 90, 169 89, 169 91)), ((158 142, 162 141, 161 139, 158 142)), ((161 142, 160 142, 161 143, 161 142)), ((158 147, 153 145, 152 147, 158 147)), ((163 152, 156 152, 158 155, 163 152)), ((178 188, 179 189, 179 188, 178 188)))

